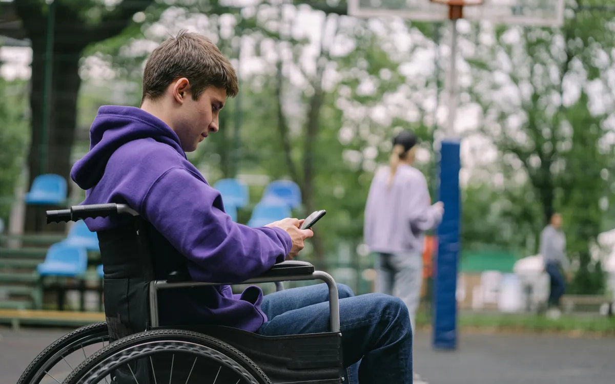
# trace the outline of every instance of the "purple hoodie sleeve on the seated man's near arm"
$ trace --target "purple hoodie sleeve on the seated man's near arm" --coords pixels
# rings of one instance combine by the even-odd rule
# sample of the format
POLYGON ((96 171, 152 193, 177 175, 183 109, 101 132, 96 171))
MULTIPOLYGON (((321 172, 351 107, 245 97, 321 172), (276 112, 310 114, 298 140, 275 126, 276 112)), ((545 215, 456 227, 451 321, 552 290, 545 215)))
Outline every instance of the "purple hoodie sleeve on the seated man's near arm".
POLYGON ((220 193, 185 168, 171 168, 149 189, 141 214, 189 260, 196 281, 239 283, 284 261, 292 247, 285 230, 233 222, 220 193))

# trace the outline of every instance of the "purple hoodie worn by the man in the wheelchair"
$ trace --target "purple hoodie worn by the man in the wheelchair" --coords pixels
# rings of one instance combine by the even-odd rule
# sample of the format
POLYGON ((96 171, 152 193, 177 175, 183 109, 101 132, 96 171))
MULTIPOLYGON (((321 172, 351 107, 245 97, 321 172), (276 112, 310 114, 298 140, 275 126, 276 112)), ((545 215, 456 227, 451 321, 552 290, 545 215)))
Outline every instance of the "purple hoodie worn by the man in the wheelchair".
MULTIPOLYGON (((156 228, 187 259, 195 281, 236 283, 282 262, 292 240, 279 228, 250 228, 224 212, 220 193, 186 159, 176 133, 134 107, 102 106, 90 128, 90 151, 71 178, 86 190, 82 204, 125 203, 156 228)), ((90 230, 109 229, 108 218, 86 219, 90 230)), ((230 286, 178 298, 185 312, 175 321, 203 321, 254 332, 267 321, 263 292, 230 286)), ((161 321, 162 321, 161 313, 161 321)))

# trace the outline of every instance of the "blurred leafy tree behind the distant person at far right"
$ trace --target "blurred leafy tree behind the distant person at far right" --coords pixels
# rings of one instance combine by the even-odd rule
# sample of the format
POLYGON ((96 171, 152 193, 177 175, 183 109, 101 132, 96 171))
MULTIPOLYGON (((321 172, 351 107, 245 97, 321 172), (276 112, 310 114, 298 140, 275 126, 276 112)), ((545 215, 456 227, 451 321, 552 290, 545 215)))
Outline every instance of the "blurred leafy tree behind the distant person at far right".
POLYGON ((579 292, 601 284, 590 283, 601 276, 589 277, 589 245, 600 232, 599 204, 608 194, 600 174, 612 167, 613 152, 604 143, 613 104, 606 72, 615 46, 609 23, 608 16, 578 11, 559 29, 499 28, 495 44, 477 45, 469 60, 482 131, 496 145, 507 176, 532 187, 518 203, 541 207, 539 216, 526 211, 518 218, 538 237, 554 211, 563 213, 569 256, 579 263, 573 288, 579 292))

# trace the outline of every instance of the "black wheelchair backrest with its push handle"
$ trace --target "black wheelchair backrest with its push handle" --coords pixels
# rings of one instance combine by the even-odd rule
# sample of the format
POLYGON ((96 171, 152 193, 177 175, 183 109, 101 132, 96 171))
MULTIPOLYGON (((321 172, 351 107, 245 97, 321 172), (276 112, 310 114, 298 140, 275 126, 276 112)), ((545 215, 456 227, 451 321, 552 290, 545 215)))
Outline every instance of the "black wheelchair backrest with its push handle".
POLYGON ((126 214, 119 221, 122 224, 97 232, 104 270, 105 318, 112 341, 148 329, 149 284, 166 279, 171 272, 185 271, 186 259, 153 225, 125 205, 47 211, 48 223, 122 213, 126 214))

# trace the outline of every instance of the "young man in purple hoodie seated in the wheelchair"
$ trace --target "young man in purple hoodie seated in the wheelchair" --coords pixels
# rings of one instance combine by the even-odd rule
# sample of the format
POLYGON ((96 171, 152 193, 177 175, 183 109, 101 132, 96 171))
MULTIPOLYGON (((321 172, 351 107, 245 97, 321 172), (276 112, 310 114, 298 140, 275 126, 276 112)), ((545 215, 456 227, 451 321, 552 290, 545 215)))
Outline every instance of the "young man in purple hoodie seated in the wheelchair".
MULTIPOLYGON (((71 171, 87 190, 84 204, 131 206, 186 258, 196 281, 260 275, 296 257, 312 236, 298 228, 298 219, 262 228, 233 222, 220 194, 186 159, 186 152, 218 131, 218 114, 237 92, 236 73, 212 42, 185 32, 167 39, 146 64, 141 108, 101 107, 90 130, 90 152, 71 171)), ((116 223, 98 218, 87 225, 104 231, 116 223)), ((167 296, 166 302, 161 297, 161 324, 206 322, 263 335, 328 330, 324 284, 266 297, 256 286, 236 295, 229 286, 191 292, 196 289, 167 296)), ((345 366, 362 358, 362 384, 411 383, 412 333, 403 302, 378 294, 353 297, 341 285, 339 297, 345 366)))

